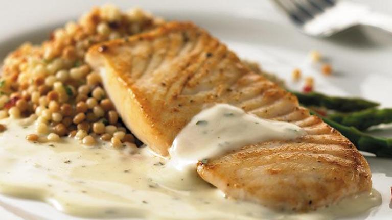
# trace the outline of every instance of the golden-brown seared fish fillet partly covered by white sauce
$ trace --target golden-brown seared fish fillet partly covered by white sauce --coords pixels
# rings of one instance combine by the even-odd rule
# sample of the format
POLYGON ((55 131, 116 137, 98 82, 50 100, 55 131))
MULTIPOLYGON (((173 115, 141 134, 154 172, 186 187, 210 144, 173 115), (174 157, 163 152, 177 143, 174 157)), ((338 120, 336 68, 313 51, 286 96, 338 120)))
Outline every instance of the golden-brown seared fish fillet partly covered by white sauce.
POLYGON ((126 126, 162 155, 168 155, 192 117, 213 103, 235 105, 307 131, 295 140, 242 146, 199 162, 199 175, 228 197, 310 210, 371 190, 368 164, 347 138, 193 23, 169 22, 95 45, 86 60, 101 72, 126 126))

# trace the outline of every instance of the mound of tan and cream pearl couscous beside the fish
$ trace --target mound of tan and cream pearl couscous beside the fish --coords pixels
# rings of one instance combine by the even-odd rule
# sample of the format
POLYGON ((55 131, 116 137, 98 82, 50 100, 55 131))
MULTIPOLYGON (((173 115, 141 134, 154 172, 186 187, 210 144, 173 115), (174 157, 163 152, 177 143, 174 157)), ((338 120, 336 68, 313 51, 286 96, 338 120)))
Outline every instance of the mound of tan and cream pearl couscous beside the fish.
POLYGON ((56 142, 69 136, 85 145, 94 145, 98 139, 110 141, 116 148, 124 142, 134 143, 134 136, 124 128, 106 96, 99 74, 84 62, 84 56, 95 43, 162 23, 140 9, 122 13, 106 5, 54 30, 41 45, 21 45, 4 61, 0 118, 35 114, 36 134, 26 136, 34 142, 56 142))

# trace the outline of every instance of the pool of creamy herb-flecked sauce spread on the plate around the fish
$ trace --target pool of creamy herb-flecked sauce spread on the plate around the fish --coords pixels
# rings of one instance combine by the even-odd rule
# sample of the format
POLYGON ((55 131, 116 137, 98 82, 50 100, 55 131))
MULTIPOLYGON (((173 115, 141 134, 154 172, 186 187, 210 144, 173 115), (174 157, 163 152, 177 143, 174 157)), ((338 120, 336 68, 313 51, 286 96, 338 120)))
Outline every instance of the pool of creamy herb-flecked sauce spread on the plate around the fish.
POLYGON ((372 191, 314 212, 275 212, 258 204, 226 199, 208 184, 190 190, 164 186, 159 183, 160 177, 175 176, 177 170, 168 169, 168 161, 150 154, 147 148, 119 151, 104 143, 87 148, 72 138, 31 143, 25 136, 34 133, 32 123, 12 119, 0 123, 7 127, 0 133, 0 192, 41 200, 71 215, 111 219, 334 219, 381 203, 379 193, 372 191))

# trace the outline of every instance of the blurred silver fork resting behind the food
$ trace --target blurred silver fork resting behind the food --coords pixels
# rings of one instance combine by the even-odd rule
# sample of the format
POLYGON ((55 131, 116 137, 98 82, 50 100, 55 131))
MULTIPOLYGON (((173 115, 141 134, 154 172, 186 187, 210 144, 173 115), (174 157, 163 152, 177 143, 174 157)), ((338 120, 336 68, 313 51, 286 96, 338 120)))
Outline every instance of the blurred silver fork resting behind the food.
POLYGON ((335 0, 274 0, 305 34, 328 37, 357 25, 392 33, 392 16, 371 11, 365 5, 335 0))

